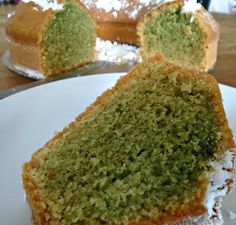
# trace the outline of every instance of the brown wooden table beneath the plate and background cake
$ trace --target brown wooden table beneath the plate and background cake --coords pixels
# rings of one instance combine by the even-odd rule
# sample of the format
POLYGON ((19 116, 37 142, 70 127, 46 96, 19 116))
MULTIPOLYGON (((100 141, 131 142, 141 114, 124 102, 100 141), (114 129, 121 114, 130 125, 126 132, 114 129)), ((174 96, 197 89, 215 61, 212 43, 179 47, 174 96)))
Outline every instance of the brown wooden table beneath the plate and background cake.
MULTIPOLYGON (((7 15, 14 11, 15 6, 0 6, 0 56, 6 50, 4 36, 4 23, 7 15)), ((221 25, 221 38, 218 49, 218 60, 211 74, 223 84, 236 87, 236 15, 214 14, 221 25)), ((107 66, 100 68, 99 72, 123 72, 128 66, 107 66)), ((0 60, 0 90, 27 84, 32 80, 21 77, 9 71, 0 60)))

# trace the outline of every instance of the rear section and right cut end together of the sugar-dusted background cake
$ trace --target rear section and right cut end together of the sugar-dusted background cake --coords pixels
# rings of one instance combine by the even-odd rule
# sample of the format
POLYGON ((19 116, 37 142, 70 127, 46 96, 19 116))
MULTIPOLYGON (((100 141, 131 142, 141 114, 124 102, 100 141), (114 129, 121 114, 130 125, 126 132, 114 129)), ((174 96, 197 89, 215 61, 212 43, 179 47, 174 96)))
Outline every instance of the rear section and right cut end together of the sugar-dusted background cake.
POLYGON ((196 0, 82 2, 97 22, 101 41, 137 45, 143 59, 159 54, 202 71, 216 62, 219 24, 196 0))

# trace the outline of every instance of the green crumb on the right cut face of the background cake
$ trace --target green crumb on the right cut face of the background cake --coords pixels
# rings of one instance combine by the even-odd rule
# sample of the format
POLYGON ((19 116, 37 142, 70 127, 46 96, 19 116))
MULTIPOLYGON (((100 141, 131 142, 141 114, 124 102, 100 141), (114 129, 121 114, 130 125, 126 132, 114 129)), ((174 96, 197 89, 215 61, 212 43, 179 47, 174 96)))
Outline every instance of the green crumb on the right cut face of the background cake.
POLYGON ((176 64, 203 68, 206 34, 180 6, 163 9, 148 18, 142 35, 145 57, 161 53, 176 64))

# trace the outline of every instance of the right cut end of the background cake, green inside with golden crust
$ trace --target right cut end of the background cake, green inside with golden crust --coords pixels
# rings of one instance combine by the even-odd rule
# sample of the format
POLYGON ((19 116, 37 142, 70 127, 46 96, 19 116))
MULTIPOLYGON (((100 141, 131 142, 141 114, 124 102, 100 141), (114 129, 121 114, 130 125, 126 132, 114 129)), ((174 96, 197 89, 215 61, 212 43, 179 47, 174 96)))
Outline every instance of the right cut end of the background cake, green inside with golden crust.
POLYGON ((219 25, 195 0, 160 4, 139 21, 137 30, 143 58, 160 54, 203 71, 216 62, 219 25))

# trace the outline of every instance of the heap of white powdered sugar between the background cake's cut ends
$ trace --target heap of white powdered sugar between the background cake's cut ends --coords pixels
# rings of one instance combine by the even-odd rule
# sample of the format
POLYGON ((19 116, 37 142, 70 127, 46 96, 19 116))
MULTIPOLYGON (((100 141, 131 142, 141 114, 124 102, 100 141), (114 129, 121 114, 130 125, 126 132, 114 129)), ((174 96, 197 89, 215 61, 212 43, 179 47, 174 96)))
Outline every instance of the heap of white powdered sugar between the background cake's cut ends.
POLYGON ((129 61, 141 61, 139 48, 127 45, 119 44, 117 42, 103 41, 97 38, 96 52, 98 60, 115 62, 123 64, 129 61))

